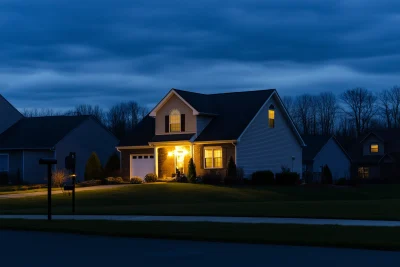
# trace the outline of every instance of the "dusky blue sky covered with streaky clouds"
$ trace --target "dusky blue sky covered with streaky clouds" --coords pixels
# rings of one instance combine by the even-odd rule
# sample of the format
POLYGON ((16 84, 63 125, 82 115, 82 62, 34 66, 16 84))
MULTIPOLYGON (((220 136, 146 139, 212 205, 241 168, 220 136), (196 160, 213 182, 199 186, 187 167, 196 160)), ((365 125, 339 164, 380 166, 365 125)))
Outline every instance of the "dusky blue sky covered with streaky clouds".
POLYGON ((1 0, 17 108, 151 107, 170 88, 281 95, 400 84, 398 0, 1 0))

